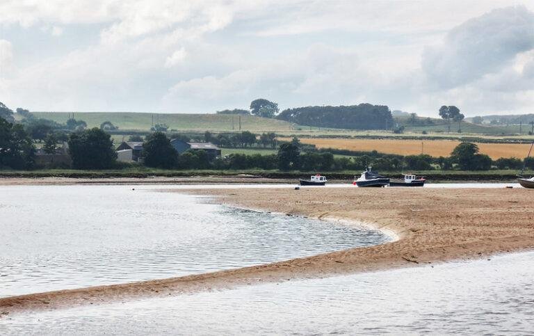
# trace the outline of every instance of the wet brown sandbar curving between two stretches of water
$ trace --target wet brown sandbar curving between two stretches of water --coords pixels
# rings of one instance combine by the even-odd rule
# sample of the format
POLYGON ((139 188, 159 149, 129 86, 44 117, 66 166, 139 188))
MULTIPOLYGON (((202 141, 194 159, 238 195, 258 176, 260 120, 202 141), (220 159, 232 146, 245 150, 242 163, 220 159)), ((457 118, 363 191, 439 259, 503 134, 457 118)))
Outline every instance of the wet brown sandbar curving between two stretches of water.
POLYGON ((213 202, 249 209, 357 221, 390 230, 398 240, 230 271, 1 298, 0 313, 488 258, 495 253, 534 246, 533 191, 528 189, 302 188, 190 192, 213 195, 213 202))

